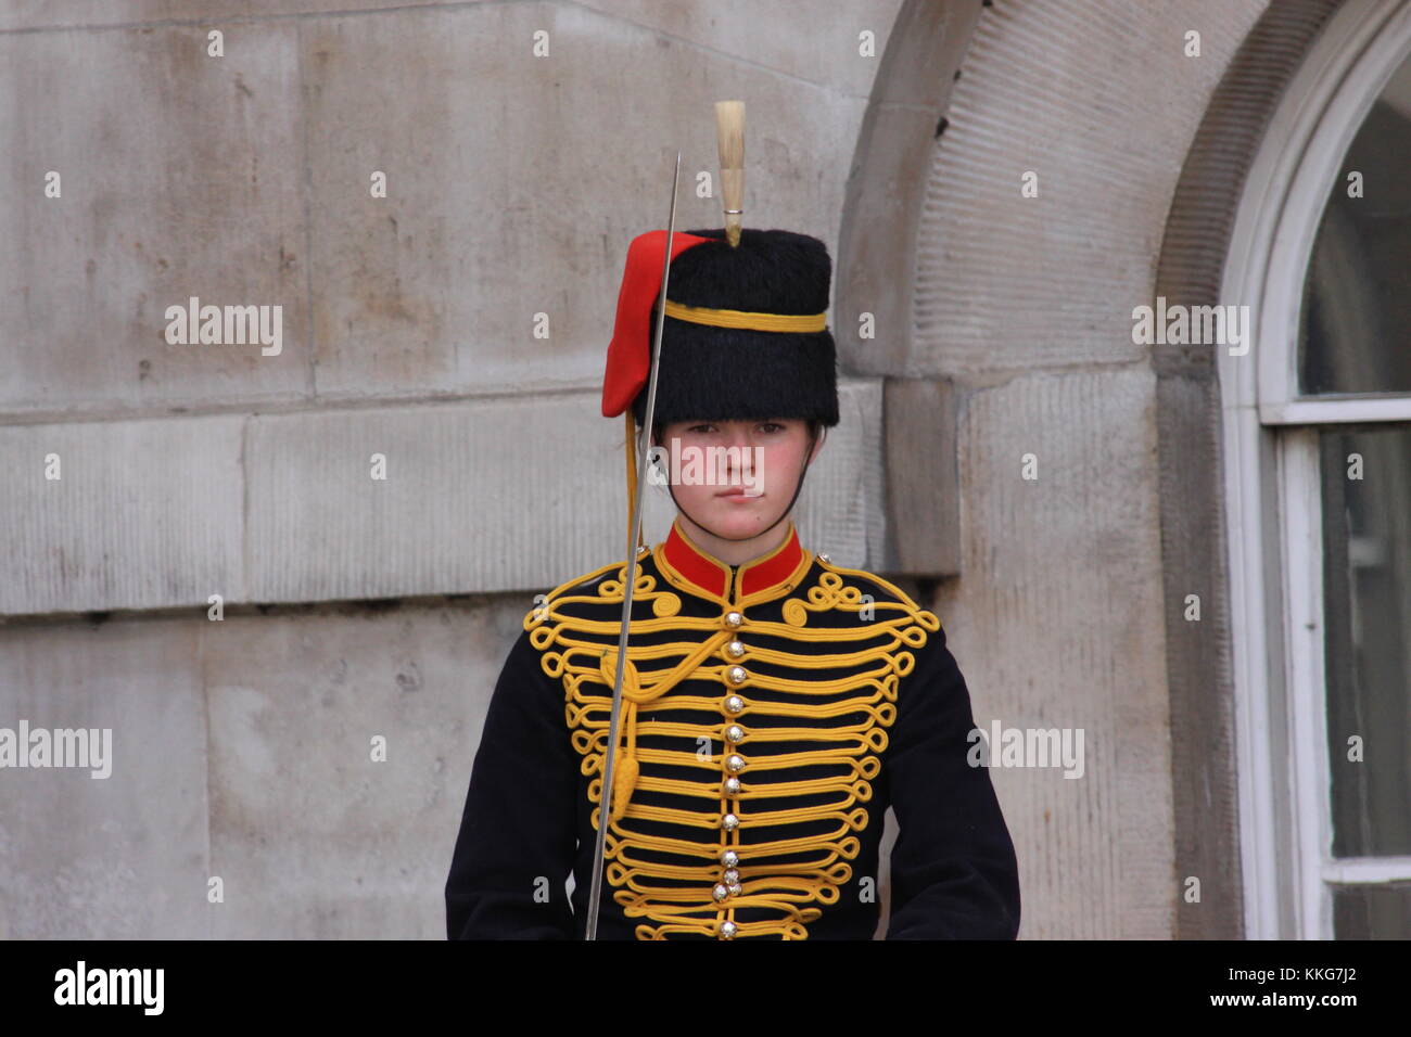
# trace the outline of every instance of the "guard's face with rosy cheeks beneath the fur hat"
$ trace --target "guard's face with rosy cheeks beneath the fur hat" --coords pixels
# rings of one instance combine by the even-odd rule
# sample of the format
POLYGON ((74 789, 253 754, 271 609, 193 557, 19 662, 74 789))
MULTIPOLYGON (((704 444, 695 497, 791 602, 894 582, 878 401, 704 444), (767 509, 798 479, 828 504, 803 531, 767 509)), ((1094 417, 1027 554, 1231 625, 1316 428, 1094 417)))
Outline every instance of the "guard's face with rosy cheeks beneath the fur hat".
POLYGON ((659 446, 676 502, 717 535, 744 539, 769 529, 793 501, 809 423, 674 422, 662 430, 659 446))

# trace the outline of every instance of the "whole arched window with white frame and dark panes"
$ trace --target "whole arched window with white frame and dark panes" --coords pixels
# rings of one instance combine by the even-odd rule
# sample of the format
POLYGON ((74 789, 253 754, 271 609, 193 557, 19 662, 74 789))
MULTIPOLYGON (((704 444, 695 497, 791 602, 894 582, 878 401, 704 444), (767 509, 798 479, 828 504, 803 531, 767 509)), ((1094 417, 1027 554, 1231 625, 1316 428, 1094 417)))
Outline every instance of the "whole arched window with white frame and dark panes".
POLYGON ((1309 51, 1222 298, 1247 935, 1411 938, 1411 3, 1309 51))

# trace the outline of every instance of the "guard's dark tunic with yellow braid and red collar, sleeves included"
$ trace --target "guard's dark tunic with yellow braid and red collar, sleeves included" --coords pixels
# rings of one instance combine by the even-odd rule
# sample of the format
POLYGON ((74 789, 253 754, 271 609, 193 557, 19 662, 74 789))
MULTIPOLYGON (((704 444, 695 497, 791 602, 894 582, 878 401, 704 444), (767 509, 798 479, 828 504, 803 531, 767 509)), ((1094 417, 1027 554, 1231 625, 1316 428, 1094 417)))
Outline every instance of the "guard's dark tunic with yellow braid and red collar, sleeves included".
MULTIPOLYGON (((886 938, 1016 937, 1015 847, 934 614, 792 523, 745 566, 673 525, 636 566, 600 940, 869 940, 889 806, 886 938)), ((473 766, 450 938, 584 934, 624 573, 525 617, 473 766)))

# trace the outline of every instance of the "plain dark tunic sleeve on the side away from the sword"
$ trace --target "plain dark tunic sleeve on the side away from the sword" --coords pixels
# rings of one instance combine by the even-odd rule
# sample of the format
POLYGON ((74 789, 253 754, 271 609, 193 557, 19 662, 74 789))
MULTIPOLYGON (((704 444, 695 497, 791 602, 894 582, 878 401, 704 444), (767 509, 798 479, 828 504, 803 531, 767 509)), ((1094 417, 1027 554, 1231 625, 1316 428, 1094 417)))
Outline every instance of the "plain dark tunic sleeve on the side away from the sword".
POLYGON ((899 834, 888 940, 1013 940, 1019 863, 989 769, 967 753, 969 690, 937 629, 903 677, 889 742, 899 834))

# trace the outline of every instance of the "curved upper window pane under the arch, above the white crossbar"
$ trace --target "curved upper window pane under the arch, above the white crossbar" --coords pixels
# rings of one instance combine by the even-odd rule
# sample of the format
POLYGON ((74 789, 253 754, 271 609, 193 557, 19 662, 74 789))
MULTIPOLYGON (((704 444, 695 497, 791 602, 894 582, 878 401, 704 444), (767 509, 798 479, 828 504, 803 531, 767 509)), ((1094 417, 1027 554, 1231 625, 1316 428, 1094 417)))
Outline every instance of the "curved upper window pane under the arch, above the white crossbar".
POLYGON ((1373 104, 1314 243, 1300 317, 1305 395, 1411 392, 1411 59, 1373 104), (1349 198, 1349 175, 1362 198, 1349 198))

